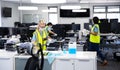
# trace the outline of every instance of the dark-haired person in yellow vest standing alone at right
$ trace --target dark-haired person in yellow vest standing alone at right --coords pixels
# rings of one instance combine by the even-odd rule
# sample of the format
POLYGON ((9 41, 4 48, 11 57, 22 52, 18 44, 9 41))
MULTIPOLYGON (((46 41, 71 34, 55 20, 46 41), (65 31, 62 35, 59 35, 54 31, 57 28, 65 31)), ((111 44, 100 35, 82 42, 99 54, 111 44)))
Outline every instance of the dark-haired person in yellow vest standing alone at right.
POLYGON ((99 28, 99 23, 100 20, 98 17, 93 17, 93 27, 91 28, 90 31, 90 38, 89 38, 89 48, 88 51, 96 51, 97 55, 101 58, 102 65, 107 64, 107 60, 105 59, 105 56, 101 53, 99 50, 99 44, 100 44, 100 28, 99 28))

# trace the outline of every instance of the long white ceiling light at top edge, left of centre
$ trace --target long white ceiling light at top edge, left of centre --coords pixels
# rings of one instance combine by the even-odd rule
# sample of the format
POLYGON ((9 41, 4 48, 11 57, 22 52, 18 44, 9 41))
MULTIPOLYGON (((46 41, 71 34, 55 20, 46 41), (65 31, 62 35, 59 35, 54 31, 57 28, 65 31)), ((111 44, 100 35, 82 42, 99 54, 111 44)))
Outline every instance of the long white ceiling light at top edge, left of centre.
POLYGON ((66 3, 66 0, 31 0, 32 3, 66 3))

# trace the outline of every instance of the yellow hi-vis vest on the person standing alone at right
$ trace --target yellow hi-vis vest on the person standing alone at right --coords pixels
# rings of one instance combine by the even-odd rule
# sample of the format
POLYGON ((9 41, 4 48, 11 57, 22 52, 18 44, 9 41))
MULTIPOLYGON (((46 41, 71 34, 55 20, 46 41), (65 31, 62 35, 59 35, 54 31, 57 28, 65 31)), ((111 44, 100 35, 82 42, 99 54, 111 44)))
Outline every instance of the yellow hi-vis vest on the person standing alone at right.
POLYGON ((97 27, 98 28, 98 35, 93 35, 93 34, 90 34, 90 42, 92 43, 100 43, 100 29, 99 29, 99 25, 98 24, 95 24, 92 29, 91 29, 91 32, 93 32, 93 29, 97 27))

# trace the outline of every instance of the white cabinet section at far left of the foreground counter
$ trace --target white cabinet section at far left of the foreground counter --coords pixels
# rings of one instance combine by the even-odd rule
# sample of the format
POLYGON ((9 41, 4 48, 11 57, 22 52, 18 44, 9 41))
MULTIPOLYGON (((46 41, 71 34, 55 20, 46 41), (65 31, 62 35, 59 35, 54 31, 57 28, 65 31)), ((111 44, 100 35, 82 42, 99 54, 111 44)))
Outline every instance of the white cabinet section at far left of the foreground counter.
POLYGON ((14 55, 17 52, 0 50, 0 70, 14 70, 14 55))

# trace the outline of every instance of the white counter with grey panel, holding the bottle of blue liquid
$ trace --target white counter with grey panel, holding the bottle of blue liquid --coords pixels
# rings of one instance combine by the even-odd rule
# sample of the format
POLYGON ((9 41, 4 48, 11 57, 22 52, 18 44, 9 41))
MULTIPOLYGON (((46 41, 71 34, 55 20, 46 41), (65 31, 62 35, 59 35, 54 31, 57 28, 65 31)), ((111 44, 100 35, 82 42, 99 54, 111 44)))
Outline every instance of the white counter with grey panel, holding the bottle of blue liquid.
MULTIPOLYGON (((50 51, 61 53, 55 56, 52 64, 49 64, 45 56, 43 70, 97 70, 96 52, 77 52, 76 55, 63 54, 62 51, 50 51)), ((29 55, 15 55, 15 70, 24 70, 29 55)))

